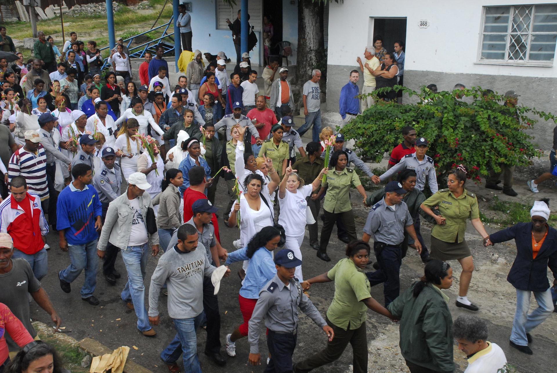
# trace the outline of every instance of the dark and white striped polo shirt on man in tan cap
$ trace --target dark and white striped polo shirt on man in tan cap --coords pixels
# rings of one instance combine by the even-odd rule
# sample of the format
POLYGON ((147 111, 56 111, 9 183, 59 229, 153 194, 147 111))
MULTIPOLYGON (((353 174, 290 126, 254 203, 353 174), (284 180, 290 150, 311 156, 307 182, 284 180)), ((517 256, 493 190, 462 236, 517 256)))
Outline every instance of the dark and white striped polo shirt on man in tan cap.
POLYGON ((41 201, 48 198, 48 186, 46 182, 46 153, 45 148, 39 145, 37 154, 19 148, 9 159, 8 178, 9 182, 16 176, 23 176, 27 181, 29 193, 36 193, 41 201))

